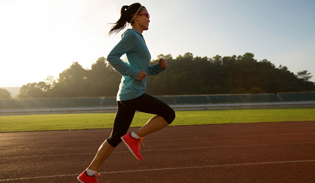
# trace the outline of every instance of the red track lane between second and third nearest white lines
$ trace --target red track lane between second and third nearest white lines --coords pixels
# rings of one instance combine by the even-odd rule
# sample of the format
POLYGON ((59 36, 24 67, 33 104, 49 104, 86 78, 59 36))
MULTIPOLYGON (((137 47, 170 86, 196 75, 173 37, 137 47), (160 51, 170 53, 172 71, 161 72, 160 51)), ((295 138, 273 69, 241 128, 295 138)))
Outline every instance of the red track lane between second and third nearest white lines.
MULTIPOLYGON (((211 137, 208 134, 206 137, 203 135, 193 136, 192 138, 179 138, 179 139, 163 139, 158 138, 149 140, 144 140, 146 148, 143 150, 154 149, 169 149, 176 148, 174 143, 177 143, 179 147, 203 147, 207 144, 202 143, 202 141, 211 144, 212 146, 237 146, 237 145, 247 145, 247 144, 278 144, 278 143, 306 143, 314 142, 315 133, 299 133, 299 134, 282 134, 286 138, 279 138, 277 134, 266 135, 266 136, 226 136, 226 137, 211 137), (250 137, 250 139, 249 139, 250 137), (232 138, 228 140, 226 138, 232 138), (262 140, 263 139, 263 140, 262 140), (182 144, 182 145, 181 145, 182 144), (190 144, 193 144, 191 146, 190 144), (155 146, 158 145, 158 146, 155 146)), ((82 143, 82 144, 56 144, 56 145, 45 145, 45 146, 25 146, 20 148, 5 148, 0 149, 0 159, 9 157, 23 157, 23 156, 41 156, 41 155, 54 155, 60 154, 60 152, 70 152, 70 153, 92 153, 98 150, 100 144, 98 143, 82 143)), ((126 151, 126 149, 118 146, 115 151, 126 151)), ((114 151, 114 152, 115 152, 114 151)))

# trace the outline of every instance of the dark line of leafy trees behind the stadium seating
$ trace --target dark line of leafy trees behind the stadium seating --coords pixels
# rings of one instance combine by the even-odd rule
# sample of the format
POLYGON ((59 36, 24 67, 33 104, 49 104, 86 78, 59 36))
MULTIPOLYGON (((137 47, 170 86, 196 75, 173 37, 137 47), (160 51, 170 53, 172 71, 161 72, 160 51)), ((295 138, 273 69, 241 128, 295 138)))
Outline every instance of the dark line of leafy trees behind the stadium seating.
MULTIPOLYGON (((159 55, 168 68, 156 76, 147 76, 146 93, 151 95, 236 94, 314 91, 315 83, 307 70, 294 74, 285 66, 276 67, 266 59, 258 62, 254 54, 243 56, 193 57, 192 53, 159 55)), ((78 62, 59 74, 20 89, 19 98, 116 96, 121 75, 100 57, 91 69, 78 62)))

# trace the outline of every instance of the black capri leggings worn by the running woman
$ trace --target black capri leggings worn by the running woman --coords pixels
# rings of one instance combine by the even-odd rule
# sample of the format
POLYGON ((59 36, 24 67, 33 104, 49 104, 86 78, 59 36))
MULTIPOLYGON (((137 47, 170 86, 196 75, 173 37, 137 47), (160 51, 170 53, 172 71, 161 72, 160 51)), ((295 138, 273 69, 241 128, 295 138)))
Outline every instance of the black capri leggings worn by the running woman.
POLYGON ((116 147, 122 141, 120 137, 127 133, 136 110, 162 116, 169 124, 175 119, 175 112, 170 106, 148 94, 142 94, 131 100, 117 101, 114 127, 110 137, 107 138, 111 146, 116 147))

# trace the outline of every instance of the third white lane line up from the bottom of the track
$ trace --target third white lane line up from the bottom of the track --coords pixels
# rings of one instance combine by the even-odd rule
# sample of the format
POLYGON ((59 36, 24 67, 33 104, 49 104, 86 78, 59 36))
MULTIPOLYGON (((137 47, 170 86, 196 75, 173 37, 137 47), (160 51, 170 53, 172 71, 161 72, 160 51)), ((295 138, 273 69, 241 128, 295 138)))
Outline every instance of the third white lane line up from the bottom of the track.
MULTIPOLYGON (((230 138, 230 137, 253 137, 253 136, 275 136, 275 135, 300 135, 300 134, 315 134, 314 133, 284 133, 284 134, 265 134, 265 135, 239 135, 239 136, 222 136, 222 137, 198 137, 198 138, 230 138)), ((146 141, 161 141, 161 140, 186 140, 196 138, 170 138, 170 139, 156 139, 146 141)), ((103 142, 91 142, 91 143, 103 143, 103 142)), ((89 143, 62 143, 62 144, 43 144, 43 145, 26 145, 26 146, 9 146, 0 148, 16 148, 16 147, 29 147, 29 146, 54 146, 54 145, 70 145, 70 144, 89 144, 89 143)))

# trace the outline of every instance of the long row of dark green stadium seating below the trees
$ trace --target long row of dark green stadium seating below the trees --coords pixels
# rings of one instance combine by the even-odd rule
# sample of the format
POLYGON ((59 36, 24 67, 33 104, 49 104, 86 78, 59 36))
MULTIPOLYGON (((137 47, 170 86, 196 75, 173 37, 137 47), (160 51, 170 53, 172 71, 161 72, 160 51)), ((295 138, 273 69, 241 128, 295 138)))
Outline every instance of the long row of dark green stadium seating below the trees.
MULTIPOLYGON (((255 102, 291 102, 314 101, 315 92, 278 93, 277 94, 218 94, 155 96, 168 105, 176 104, 222 104, 255 102)), ((56 108, 56 107, 96 107, 117 106, 116 97, 105 98, 66 98, 66 99, 1 99, 0 109, 5 108, 56 108)))

